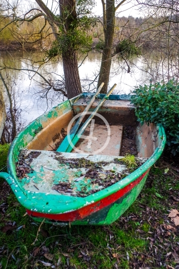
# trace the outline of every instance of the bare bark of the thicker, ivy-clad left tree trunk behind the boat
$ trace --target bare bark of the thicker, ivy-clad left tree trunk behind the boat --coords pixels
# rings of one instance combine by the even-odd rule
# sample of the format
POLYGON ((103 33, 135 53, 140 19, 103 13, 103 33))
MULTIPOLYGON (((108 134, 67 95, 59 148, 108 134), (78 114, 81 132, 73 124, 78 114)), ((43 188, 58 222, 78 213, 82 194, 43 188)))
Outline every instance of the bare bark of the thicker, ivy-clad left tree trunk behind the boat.
MULTIPOLYGON (((64 32, 68 35, 68 30, 72 27, 73 20, 77 18, 76 0, 59 0, 60 15, 64 24, 64 32), (68 10, 69 15, 64 11, 68 10)), ((78 52, 73 47, 69 47, 67 52, 62 53, 63 68, 65 76, 65 88, 68 99, 82 93, 80 75, 78 69, 78 52)))

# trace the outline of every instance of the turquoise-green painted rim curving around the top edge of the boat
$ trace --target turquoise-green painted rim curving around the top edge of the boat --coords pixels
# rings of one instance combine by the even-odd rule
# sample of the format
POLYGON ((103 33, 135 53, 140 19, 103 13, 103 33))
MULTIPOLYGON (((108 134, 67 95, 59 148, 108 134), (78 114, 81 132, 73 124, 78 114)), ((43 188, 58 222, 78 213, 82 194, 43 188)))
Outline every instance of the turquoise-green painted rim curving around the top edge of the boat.
MULTIPOLYGON (((86 93, 85 93, 86 94, 86 93)), ((82 97, 84 94, 81 94, 80 96, 78 96, 78 98, 82 97)), ((114 97, 114 96, 113 96, 114 97)), ((117 96, 120 97, 120 96, 117 96)), ((73 98, 71 100, 67 100, 66 102, 71 101, 76 98, 73 98)), ((119 100, 119 99, 118 99, 119 100)), ((121 100, 121 99, 120 99, 121 100)), ((122 100, 129 100, 129 99, 122 99, 122 100)), ((58 106, 64 104, 65 102, 59 104, 58 106)), ((55 109, 56 107, 54 107, 53 109, 55 109)), ((53 111, 53 109, 51 111, 53 111)), ((42 116, 44 116, 45 114, 43 114, 42 116)), ((40 116, 40 117, 42 117, 40 116)), ((31 124, 35 123, 40 117, 38 117, 36 120, 34 120, 31 124)), ((30 125, 31 125, 30 124, 30 125)), ((9 148, 9 153, 8 153, 8 161, 7 161, 7 167, 8 167, 8 172, 7 173, 1 173, 1 177, 3 177, 8 184, 11 186, 17 200, 27 209, 31 210, 32 209, 32 204, 34 204, 34 207, 36 208, 36 211, 38 212, 42 212, 42 210, 44 210, 44 213, 48 213, 49 209, 51 209, 50 213, 51 214, 63 214, 66 213, 67 211, 75 211, 77 209, 80 209, 82 207, 87 206, 89 203, 94 203, 97 202, 99 200, 102 200, 103 198, 110 196, 111 194, 115 193, 116 191, 118 191, 119 189, 124 188, 125 186, 127 186, 128 184, 132 183, 134 180, 136 180, 139 176, 143 175, 143 173, 145 173, 155 162, 156 160, 160 157, 160 155, 163 152, 165 143, 166 143, 166 135, 165 135, 165 131, 163 126, 157 126, 157 129, 159 131, 159 141, 160 141, 160 146, 157 147, 155 149, 155 151, 153 152, 153 154, 149 157, 149 159, 142 164, 140 167, 138 167, 135 171, 133 171, 131 174, 127 175, 125 178, 123 178, 122 180, 114 183, 113 185, 100 190, 94 194, 90 194, 87 197, 75 197, 77 198, 76 201, 74 201, 74 197, 73 197, 73 201, 72 201, 72 197, 71 196, 63 196, 64 197, 64 203, 65 203, 65 199, 68 198, 71 199, 71 201, 69 202, 68 206, 63 206, 64 209, 62 209, 62 205, 61 205, 61 211, 59 212, 58 207, 53 207, 52 205, 46 205, 44 208, 43 204, 39 204, 38 203, 38 197, 37 200, 33 199, 31 200, 31 197, 29 197, 27 195, 27 193, 24 191, 24 189, 22 188, 18 178, 16 177, 16 173, 14 170, 14 164, 13 164, 13 148, 16 144, 16 142, 18 141, 18 136, 20 136, 24 130, 26 130, 27 128, 29 128, 29 125, 23 129, 14 139, 14 141, 12 142, 10 148, 9 148)), ((89 155, 89 154, 85 154, 85 155, 89 155)), ((117 156, 116 156, 117 157, 117 156)), ((42 195, 42 193, 40 193, 42 195)), ((46 194, 44 194, 44 197, 46 194)), ((54 197, 59 197, 59 194, 49 194, 48 198, 53 196, 54 197)), ((46 201, 46 200, 45 200, 46 201)), ((32 210, 33 211, 33 210, 32 210)))

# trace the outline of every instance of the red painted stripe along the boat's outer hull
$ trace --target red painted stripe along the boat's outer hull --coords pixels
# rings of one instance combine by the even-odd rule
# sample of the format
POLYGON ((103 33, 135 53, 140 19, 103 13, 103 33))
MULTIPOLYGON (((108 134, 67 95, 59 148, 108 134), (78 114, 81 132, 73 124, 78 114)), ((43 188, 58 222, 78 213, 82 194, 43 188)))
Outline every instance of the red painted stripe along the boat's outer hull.
POLYGON ((132 188, 134 188, 148 173, 150 169, 148 169, 145 173, 143 173, 140 177, 138 177, 134 182, 130 183, 126 187, 117 192, 97 201, 93 204, 84 206, 80 209, 74 210, 72 212, 63 213, 63 214, 47 214, 47 213, 39 213, 34 212, 31 210, 26 209, 27 214, 32 217, 39 217, 39 218, 48 218, 52 220, 59 220, 59 221, 75 221, 75 220, 82 220, 85 217, 89 216, 90 214, 101 210, 102 208, 114 203, 116 200, 124 196, 127 192, 129 192, 132 188))

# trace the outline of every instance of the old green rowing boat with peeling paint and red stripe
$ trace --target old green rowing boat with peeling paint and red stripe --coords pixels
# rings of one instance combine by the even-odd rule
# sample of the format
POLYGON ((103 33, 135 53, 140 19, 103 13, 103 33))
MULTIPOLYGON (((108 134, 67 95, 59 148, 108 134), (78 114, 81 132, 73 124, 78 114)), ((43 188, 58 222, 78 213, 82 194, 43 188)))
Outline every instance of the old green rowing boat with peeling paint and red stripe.
MULTIPOLYGON (((135 201, 151 166, 164 150, 164 128, 141 126, 131 96, 111 94, 73 150, 56 151, 92 96, 82 93, 59 104, 30 123, 11 143, 8 173, 1 172, 0 177, 37 222, 62 226, 111 224, 135 201), (121 155, 128 127, 134 134, 129 145, 136 145, 133 168, 126 162, 130 154, 121 155)), ((97 96, 89 114, 104 96, 97 96)))

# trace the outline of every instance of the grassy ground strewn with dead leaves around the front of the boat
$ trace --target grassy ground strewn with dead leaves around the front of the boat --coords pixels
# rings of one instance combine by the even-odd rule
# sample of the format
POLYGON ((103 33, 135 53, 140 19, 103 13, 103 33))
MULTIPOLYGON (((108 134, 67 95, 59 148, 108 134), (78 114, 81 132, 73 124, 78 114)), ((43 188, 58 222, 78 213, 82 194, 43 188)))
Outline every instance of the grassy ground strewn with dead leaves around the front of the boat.
MULTIPOLYGON (((5 166, 5 158, 0 165, 5 166)), ((178 251, 179 226, 175 227, 168 214, 179 208, 178 168, 164 160, 156 165, 133 205, 118 221, 101 227, 43 223, 39 231, 40 224, 25 215, 25 209, 0 179, 0 229, 11 223, 15 227, 0 231, 0 268, 46 268, 42 262, 54 266, 47 268, 58 269, 175 268, 172 254, 178 251), (166 230, 164 224, 174 229, 166 230)))

